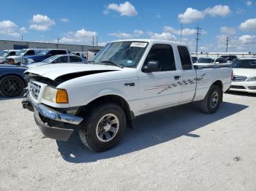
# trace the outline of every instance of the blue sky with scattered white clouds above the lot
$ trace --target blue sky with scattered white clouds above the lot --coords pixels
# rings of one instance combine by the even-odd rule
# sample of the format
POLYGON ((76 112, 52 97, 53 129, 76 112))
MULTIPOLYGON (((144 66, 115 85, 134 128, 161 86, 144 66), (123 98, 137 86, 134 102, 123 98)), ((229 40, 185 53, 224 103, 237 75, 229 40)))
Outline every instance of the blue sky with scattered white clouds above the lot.
POLYGON ((183 41, 199 50, 256 52, 256 0, 229 1, 1 1, 0 39, 99 44, 116 39, 183 41), (6 7, 6 8, 4 8, 6 7), (182 38, 181 38, 181 24, 182 38))

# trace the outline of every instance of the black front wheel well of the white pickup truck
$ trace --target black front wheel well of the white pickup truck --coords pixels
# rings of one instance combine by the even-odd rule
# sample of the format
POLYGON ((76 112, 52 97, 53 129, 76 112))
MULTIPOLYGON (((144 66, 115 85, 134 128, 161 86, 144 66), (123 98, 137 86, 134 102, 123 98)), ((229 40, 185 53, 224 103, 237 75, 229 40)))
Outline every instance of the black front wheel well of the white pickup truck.
POLYGON ((127 117, 127 125, 129 128, 133 128, 133 118, 135 117, 134 113, 130 110, 129 104, 127 101, 124 100, 121 96, 118 95, 104 95, 102 97, 94 99, 94 101, 91 101, 86 106, 83 106, 80 110, 83 110, 83 112, 86 112, 84 110, 87 110, 91 108, 92 106, 103 104, 103 103, 113 103, 118 104, 121 106, 122 109, 124 109, 124 113, 127 117))

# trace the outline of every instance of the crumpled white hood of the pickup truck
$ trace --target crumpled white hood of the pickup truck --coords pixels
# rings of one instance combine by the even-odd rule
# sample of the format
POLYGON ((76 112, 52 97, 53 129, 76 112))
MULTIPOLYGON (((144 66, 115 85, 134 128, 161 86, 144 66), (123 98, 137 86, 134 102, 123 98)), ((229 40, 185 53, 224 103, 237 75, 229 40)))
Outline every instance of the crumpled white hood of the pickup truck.
MULTIPOLYGON (((81 63, 54 63, 43 66, 33 67, 26 70, 25 74, 37 74, 49 79, 56 79, 66 74, 78 74, 86 71, 118 71, 121 68, 117 66, 99 65, 99 64, 81 64, 81 63)), ((97 72, 96 72, 97 73, 97 72)))

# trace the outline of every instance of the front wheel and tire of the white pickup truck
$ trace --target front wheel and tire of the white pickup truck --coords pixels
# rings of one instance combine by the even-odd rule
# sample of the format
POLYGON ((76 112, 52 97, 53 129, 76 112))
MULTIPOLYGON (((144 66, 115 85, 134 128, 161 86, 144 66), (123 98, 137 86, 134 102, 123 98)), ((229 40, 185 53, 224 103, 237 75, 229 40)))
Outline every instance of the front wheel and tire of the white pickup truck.
POLYGON ((118 144, 126 125, 126 115, 121 106, 116 104, 97 105, 90 110, 90 114, 84 117, 80 125, 80 140, 89 149, 95 152, 104 152, 118 144), (110 125, 110 122, 113 122, 113 125, 110 125))

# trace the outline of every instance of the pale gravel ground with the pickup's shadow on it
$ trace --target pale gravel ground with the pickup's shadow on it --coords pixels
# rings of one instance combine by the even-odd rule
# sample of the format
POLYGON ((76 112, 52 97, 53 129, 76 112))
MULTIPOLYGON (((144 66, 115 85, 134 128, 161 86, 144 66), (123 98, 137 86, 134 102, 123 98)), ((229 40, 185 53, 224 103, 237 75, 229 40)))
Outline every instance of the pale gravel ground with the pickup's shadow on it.
POLYGON ((21 98, 0 98, 0 190, 256 190, 256 96, 216 114, 189 104, 138 117, 108 152, 43 139, 21 98))

